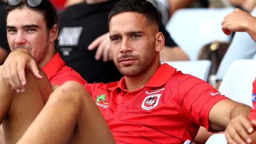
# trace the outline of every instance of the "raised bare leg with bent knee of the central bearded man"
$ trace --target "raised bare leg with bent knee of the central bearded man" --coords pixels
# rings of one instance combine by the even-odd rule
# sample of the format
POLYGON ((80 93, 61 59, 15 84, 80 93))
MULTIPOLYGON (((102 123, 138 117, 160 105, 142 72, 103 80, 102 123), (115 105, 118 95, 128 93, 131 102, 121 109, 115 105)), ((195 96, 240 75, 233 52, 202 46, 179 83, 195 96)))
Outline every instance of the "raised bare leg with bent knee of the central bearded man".
POLYGON ((89 93, 69 81, 48 102, 18 144, 114 144, 105 119, 89 93))

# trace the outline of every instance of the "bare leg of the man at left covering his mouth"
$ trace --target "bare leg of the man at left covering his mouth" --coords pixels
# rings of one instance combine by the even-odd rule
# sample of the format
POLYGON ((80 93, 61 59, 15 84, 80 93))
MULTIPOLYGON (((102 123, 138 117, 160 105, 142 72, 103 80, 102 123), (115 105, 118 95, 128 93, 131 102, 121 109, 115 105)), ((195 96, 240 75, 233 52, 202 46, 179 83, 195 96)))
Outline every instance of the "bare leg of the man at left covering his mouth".
POLYGON ((19 140, 43 108, 42 96, 46 99, 45 94, 50 92, 49 89, 51 90, 50 83, 48 83, 48 91, 42 85, 48 81, 47 79, 38 82, 29 72, 26 73, 26 78, 26 91, 19 94, 11 90, 2 77, 0 78, 0 122, 3 125, 6 144, 19 140), (41 87, 39 88, 38 85, 41 87), (41 94, 40 89, 45 89, 46 92, 41 94))

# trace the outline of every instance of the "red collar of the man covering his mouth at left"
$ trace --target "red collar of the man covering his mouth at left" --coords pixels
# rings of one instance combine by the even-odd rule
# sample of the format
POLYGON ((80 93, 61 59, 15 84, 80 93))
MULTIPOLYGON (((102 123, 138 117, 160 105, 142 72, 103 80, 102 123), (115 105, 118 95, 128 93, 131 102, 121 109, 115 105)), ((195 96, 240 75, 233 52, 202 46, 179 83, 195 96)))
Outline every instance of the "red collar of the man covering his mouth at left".
POLYGON ((48 63, 43 66, 43 71, 45 72, 47 78, 50 78, 52 75, 56 74, 65 63, 59 56, 59 53, 56 53, 48 63))

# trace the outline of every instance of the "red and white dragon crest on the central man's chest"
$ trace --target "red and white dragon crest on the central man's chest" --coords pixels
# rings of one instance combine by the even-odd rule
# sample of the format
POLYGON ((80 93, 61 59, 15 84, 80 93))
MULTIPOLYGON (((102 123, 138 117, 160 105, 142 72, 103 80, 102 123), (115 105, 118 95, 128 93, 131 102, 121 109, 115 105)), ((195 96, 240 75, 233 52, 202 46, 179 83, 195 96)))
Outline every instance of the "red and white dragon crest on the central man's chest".
POLYGON ((145 110, 150 110, 150 109, 155 108, 158 105, 161 95, 162 94, 153 94, 153 95, 147 96, 143 100, 141 108, 145 109, 145 110))

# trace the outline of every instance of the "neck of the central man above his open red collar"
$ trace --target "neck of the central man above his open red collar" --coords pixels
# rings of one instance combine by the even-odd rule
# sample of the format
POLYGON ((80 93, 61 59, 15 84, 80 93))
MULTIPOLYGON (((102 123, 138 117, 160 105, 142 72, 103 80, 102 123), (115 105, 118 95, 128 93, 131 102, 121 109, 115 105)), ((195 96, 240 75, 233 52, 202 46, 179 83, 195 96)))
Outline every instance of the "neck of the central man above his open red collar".
POLYGON ((154 63, 153 66, 150 66, 147 71, 133 77, 125 77, 126 89, 133 91, 137 88, 143 87, 149 81, 149 79, 155 74, 160 66, 160 62, 154 63))

